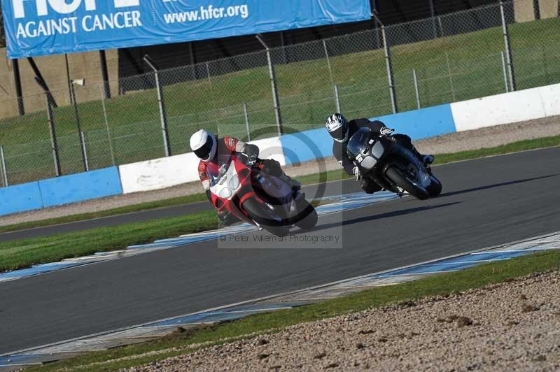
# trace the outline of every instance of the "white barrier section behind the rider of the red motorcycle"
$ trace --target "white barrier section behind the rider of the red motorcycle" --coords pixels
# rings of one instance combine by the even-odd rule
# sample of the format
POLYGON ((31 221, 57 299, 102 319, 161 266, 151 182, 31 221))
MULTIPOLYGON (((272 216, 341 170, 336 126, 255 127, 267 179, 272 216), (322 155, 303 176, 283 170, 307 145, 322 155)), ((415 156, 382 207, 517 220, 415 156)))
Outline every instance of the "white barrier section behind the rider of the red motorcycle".
MULTIPOLYGON (((266 138, 251 143, 258 145, 262 159, 272 157, 280 164, 286 164, 279 138, 266 138)), ((197 181, 199 180, 198 162, 199 159, 196 155, 193 152, 188 152, 187 154, 120 166, 123 192, 130 194, 132 192, 165 189, 182 183, 197 181)))

